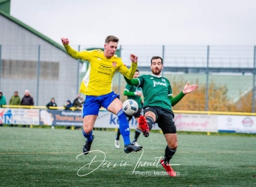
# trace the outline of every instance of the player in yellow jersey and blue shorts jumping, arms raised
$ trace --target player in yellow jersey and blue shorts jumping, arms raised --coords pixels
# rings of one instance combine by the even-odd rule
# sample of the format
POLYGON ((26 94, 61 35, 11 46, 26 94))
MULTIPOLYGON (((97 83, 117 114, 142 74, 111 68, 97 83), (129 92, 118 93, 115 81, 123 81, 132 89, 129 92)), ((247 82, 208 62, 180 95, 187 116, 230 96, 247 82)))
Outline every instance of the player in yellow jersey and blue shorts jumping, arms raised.
POLYGON ((133 78, 137 69, 137 55, 130 55, 132 64, 128 69, 121 58, 114 54, 117 51, 119 42, 117 37, 112 35, 106 37, 104 51, 96 49, 78 52, 69 46, 69 39, 61 38, 61 41, 71 57, 89 62, 87 73, 80 84, 80 93, 86 96, 82 109, 82 132, 87 141, 83 146, 83 153, 88 154, 91 149, 92 141, 94 140, 92 130, 101 107, 105 107, 105 109, 116 114, 119 118, 119 129, 123 136, 124 152, 130 153, 142 150, 142 146, 135 146, 130 143, 130 128, 126 114, 123 112, 123 105, 119 100, 119 95, 112 91, 112 79, 117 71, 128 79, 133 78))

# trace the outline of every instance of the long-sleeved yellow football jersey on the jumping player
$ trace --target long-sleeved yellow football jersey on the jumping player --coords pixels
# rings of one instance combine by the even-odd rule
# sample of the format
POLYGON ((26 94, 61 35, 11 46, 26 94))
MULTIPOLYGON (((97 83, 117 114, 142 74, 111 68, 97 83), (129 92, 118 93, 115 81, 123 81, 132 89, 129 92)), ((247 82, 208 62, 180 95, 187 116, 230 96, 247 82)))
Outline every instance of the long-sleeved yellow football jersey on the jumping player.
POLYGON ((65 48, 71 57, 89 62, 85 77, 80 84, 80 93, 87 96, 109 94, 112 91, 112 80, 116 71, 128 79, 132 79, 137 69, 137 63, 132 63, 128 69, 123 64, 121 57, 114 55, 108 59, 100 49, 78 52, 69 45, 65 45, 65 48))

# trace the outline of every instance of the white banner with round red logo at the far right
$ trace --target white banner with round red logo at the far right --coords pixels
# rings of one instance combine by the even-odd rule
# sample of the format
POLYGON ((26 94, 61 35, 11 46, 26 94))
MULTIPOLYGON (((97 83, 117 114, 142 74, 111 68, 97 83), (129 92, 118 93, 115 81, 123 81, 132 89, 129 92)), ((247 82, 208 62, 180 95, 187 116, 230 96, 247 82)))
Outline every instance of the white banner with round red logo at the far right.
POLYGON ((218 116, 219 132, 256 133, 256 116, 218 116))

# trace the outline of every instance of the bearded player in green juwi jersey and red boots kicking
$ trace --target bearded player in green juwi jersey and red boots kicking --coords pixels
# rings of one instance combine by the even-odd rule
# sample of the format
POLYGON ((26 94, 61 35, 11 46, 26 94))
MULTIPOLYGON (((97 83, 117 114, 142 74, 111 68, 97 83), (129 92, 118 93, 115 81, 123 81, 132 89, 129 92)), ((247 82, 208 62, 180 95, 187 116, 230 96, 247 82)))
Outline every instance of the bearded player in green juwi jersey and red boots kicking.
POLYGON ((130 85, 142 87, 144 107, 143 116, 139 116, 139 126, 143 135, 147 137, 153 123, 158 123, 167 141, 164 159, 161 159, 160 163, 169 176, 176 177, 176 172, 169 165, 169 161, 178 147, 176 126, 173 121, 174 114, 171 107, 176 105, 185 94, 195 91, 198 85, 189 85, 187 82, 180 94, 173 98, 169 80, 160 75, 162 68, 162 57, 154 56, 151 58, 152 75, 142 75, 131 80, 125 79, 130 85))

